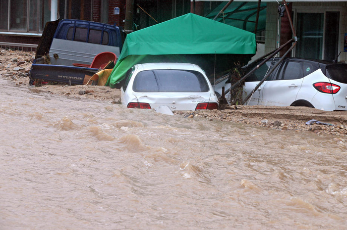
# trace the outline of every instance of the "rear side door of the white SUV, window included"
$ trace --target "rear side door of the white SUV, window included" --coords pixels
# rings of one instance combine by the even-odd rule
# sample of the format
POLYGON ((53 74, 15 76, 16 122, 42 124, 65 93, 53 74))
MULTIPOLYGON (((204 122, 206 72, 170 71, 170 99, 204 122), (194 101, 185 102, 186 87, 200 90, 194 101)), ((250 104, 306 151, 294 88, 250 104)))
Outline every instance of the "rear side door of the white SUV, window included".
POLYGON ((269 81, 264 82, 265 105, 289 106, 295 101, 303 80, 303 63, 285 60, 269 81))

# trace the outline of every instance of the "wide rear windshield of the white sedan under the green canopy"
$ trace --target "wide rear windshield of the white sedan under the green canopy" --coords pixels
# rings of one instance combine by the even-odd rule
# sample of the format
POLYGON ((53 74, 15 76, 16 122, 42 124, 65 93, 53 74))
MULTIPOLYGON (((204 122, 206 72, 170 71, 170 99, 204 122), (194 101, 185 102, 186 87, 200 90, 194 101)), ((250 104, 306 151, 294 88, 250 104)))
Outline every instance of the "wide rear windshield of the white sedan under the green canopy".
POLYGON ((190 70, 144 70, 133 84, 134 92, 208 92, 205 77, 190 70))

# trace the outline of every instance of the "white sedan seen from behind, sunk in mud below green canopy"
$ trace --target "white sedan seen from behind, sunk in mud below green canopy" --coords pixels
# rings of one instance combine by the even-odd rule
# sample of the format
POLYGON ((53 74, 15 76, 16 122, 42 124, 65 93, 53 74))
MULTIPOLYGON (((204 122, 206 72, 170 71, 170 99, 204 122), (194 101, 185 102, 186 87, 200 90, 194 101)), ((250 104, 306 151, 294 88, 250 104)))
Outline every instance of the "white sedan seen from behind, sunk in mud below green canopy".
POLYGON ((218 97, 204 71, 188 63, 134 65, 121 87, 121 102, 128 108, 218 109, 218 97))

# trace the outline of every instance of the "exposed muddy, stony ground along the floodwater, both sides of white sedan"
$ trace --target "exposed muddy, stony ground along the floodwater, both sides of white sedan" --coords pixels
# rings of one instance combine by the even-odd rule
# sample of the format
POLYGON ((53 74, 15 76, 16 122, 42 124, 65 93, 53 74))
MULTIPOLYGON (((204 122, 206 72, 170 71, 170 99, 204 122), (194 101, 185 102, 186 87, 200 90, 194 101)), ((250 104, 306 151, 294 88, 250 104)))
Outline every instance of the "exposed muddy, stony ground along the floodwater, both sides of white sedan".
MULTIPOLYGON (((10 80, 13 84, 28 88, 33 92, 47 92, 75 98, 119 103, 120 90, 106 86, 69 86, 65 84, 29 85, 29 73, 34 52, 0 50, 0 77, 10 80)), ((203 117, 206 120, 244 123, 271 129, 294 130, 295 132, 314 132, 318 135, 347 136, 347 111, 323 111, 307 107, 278 106, 227 106, 225 110, 201 110, 194 112, 176 111, 177 116, 187 119, 203 117), (305 122, 315 119, 328 125, 305 125, 305 122)))

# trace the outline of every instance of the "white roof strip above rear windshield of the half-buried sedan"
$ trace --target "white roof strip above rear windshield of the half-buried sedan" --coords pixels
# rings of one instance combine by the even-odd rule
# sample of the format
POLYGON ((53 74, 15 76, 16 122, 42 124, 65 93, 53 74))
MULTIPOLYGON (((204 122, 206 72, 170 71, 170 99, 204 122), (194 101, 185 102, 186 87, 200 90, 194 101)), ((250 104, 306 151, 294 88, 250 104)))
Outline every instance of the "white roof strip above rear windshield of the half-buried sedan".
POLYGON ((156 63, 136 64, 135 66, 138 66, 139 70, 184 69, 184 70, 202 71, 202 69, 198 65, 191 64, 191 63, 156 62, 156 63))

